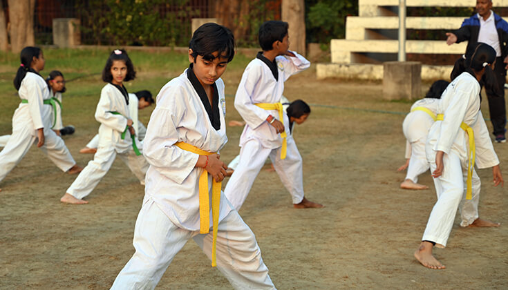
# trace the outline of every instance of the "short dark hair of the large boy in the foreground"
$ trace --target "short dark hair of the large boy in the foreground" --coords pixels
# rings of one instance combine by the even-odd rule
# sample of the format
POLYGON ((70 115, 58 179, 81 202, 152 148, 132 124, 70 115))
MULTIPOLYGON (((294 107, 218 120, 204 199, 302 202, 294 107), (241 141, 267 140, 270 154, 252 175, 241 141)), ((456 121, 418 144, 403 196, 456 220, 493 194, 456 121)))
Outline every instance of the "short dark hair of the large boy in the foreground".
POLYGON ((216 51, 218 57, 224 57, 229 62, 234 57, 234 35, 229 28, 217 23, 205 23, 194 31, 189 48, 192 50, 194 62, 198 55, 207 61, 213 61, 216 57, 212 53, 216 51))

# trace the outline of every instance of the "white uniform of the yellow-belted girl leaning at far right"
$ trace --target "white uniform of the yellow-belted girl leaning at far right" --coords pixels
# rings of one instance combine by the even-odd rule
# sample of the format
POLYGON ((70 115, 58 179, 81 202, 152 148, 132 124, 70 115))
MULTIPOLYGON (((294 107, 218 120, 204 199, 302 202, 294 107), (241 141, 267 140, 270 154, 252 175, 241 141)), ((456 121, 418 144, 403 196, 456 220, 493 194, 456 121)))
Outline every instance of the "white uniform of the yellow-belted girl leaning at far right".
POLYGON ((468 134, 462 130, 461 123, 474 131, 476 144, 476 165, 487 168, 499 164, 494 152, 489 131, 480 111, 480 84, 469 72, 454 79, 444 90, 438 104, 438 114, 443 120, 434 122, 425 144, 427 160, 431 171, 435 171, 435 155, 443 151, 443 173, 434 178, 438 201, 435 203, 422 240, 435 242, 436 247, 446 247, 455 213, 460 205, 461 226, 469 226, 478 218, 480 198, 480 177, 472 172, 472 198, 466 199, 468 171, 468 134))

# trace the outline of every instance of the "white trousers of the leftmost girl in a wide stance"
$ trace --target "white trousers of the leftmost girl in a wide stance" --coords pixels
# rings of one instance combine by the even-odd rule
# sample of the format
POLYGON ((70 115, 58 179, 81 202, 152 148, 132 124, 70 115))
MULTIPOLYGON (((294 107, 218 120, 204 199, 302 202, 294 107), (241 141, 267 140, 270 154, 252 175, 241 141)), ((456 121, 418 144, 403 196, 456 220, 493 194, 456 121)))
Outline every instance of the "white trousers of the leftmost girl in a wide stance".
MULTIPOLYGON (((0 181, 5 178, 12 169, 16 167, 23 157, 30 150, 37 137, 32 128, 19 126, 12 132, 6 146, 0 152, 0 181)), ((55 131, 51 129, 44 130, 44 145, 41 151, 48 155, 48 158, 62 171, 66 172, 72 168, 76 162, 70 155, 64 140, 60 138, 55 131)))

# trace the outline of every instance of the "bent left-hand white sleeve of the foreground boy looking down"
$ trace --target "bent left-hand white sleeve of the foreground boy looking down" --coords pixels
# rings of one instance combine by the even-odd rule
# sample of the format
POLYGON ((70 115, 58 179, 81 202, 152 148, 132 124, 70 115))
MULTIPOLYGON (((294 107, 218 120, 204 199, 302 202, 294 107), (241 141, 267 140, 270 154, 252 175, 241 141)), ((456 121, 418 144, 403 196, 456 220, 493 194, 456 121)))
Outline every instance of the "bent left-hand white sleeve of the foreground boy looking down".
POLYGON ((185 151, 178 142, 177 128, 185 115, 186 93, 181 87, 162 88, 143 140, 143 155, 157 171, 181 184, 198 162, 199 155, 185 151))

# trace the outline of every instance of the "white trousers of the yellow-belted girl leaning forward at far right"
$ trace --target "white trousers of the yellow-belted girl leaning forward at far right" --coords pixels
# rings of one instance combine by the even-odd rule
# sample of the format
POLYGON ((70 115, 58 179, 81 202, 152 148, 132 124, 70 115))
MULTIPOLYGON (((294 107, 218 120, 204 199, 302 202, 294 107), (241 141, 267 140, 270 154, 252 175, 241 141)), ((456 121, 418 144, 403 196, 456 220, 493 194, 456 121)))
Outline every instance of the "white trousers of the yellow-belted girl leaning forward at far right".
MULTIPOLYGON (((431 171, 434 171, 435 151, 430 150, 427 157, 431 163, 431 171)), ((437 247, 446 247, 458 208, 460 208, 461 226, 469 226, 478 218, 481 187, 480 177, 473 170, 472 199, 466 200, 467 161, 461 161, 452 150, 444 155, 443 165, 443 174, 434 178, 438 201, 434 204, 422 238, 422 240, 435 242, 437 247)))

